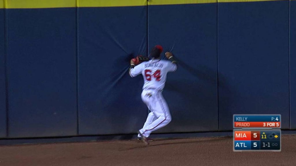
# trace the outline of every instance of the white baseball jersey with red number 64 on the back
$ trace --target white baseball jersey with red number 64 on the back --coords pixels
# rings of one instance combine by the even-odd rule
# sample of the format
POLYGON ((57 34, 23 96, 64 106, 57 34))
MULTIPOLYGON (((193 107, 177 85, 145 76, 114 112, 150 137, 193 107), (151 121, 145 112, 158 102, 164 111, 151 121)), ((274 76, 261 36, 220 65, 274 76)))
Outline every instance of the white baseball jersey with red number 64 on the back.
POLYGON ((168 72, 177 70, 177 65, 168 60, 152 59, 142 62, 129 71, 131 77, 143 75, 145 88, 163 90, 168 72))

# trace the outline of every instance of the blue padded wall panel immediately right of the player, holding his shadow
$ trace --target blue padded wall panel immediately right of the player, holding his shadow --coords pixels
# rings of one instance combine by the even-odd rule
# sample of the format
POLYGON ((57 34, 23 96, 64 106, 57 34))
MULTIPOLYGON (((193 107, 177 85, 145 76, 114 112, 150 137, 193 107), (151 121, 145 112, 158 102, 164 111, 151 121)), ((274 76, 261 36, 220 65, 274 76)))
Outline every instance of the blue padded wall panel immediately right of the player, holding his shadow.
POLYGON ((217 131, 217 4, 148 6, 148 36, 178 61, 163 91, 172 121, 155 133, 217 131))

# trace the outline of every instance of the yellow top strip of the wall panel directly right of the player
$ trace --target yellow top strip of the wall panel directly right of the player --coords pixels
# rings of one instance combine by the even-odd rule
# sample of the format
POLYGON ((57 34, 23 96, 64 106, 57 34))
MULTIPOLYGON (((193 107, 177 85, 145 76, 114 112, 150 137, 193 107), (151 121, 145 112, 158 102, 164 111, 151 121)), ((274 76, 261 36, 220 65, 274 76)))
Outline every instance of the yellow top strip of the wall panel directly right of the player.
POLYGON ((175 5, 175 4, 207 4, 217 3, 217 0, 149 0, 148 5, 175 5))

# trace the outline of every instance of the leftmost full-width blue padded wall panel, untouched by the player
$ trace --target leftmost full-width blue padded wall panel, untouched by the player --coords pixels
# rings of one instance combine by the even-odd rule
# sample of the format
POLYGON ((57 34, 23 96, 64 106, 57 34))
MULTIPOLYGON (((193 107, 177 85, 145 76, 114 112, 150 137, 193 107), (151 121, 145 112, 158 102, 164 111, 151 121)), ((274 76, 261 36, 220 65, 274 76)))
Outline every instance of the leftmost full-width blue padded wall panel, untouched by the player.
POLYGON ((76 9, 7 9, 9 137, 77 135, 76 9))

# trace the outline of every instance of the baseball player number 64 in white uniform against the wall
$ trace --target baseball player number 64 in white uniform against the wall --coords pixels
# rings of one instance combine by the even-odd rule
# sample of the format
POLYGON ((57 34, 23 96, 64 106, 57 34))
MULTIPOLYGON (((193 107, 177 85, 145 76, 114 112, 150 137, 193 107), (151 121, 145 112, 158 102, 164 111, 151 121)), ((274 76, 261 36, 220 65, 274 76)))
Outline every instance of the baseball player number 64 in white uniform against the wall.
POLYGON ((142 74, 144 78, 141 98, 151 112, 148 114, 143 128, 138 131, 138 137, 141 137, 141 140, 147 145, 151 132, 166 126, 171 121, 170 110, 163 98, 162 91, 165 87, 167 73, 176 71, 177 64, 170 52, 165 53, 169 61, 161 60, 160 53, 162 51, 162 46, 156 45, 149 54, 151 60, 141 62, 139 58, 133 58, 129 69, 131 77, 142 74))

